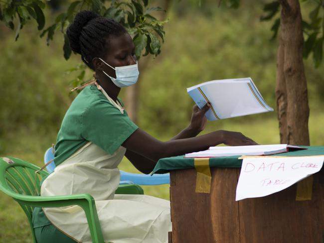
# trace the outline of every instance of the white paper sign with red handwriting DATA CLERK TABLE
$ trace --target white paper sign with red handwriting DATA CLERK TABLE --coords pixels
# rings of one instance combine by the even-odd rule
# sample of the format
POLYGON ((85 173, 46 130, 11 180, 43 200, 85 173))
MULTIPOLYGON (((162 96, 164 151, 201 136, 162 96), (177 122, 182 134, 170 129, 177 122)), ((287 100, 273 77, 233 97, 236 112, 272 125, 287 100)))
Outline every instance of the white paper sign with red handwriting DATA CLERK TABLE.
POLYGON ((264 197, 319 172, 324 156, 243 159, 236 201, 264 197))

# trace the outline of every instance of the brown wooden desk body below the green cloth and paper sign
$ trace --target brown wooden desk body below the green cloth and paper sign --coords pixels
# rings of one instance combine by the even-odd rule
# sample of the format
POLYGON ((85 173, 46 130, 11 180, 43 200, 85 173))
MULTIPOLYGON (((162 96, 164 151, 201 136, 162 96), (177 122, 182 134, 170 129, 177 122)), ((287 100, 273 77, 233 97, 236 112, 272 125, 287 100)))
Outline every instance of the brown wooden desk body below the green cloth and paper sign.
POLYGON ((196 170, 170 171, 172 243, 323 243, 324 170, 314 174, 311 201, 296 184, 235 201, 239 168, 210 168, 210 194, 196 193, 196 170))

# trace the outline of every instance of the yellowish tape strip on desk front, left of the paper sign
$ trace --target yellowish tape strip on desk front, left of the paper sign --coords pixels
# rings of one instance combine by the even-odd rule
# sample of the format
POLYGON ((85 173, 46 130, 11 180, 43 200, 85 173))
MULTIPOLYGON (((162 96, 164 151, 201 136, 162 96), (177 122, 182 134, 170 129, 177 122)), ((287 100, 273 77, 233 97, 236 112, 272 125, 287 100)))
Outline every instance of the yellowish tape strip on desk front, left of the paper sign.
POLYGON ((196 192, 210 193, 211 174, 209 168, 209 158, 195 158, 194 167, 197 171, 196 192))

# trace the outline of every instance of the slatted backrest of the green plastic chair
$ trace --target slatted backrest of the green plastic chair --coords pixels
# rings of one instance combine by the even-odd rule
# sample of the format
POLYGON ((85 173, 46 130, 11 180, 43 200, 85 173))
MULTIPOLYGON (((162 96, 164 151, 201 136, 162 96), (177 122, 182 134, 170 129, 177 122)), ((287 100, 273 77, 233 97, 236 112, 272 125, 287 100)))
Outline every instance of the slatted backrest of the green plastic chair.
MULTIPOLYGON (((17 194, 37 196, 42 178, 48 175, 46 171, 40 171, 35 176, 35 171, 39 169, 39 167, 18 158, 0 158, 0 190, 14 200, 16 200, 17 194)), ((17 202, 28 218, 35 243, 36 240, 31 222, 33 207, 27 206, 21 201, 17 202)))

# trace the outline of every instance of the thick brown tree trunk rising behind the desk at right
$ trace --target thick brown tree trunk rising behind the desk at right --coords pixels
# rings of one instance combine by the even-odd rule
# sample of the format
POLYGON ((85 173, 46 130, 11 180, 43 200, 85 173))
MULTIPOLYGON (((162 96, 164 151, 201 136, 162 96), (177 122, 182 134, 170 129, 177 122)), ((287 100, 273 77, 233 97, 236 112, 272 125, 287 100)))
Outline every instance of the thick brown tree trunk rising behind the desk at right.
POLYGON ((298 0, 280 0, 276 100, 281 143, 309 145, 309 106, 303 63, 302 14, 298 0))

